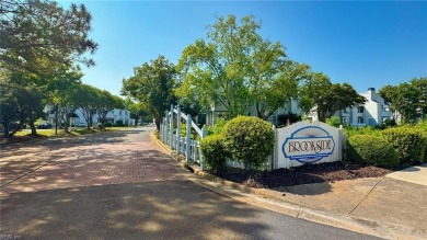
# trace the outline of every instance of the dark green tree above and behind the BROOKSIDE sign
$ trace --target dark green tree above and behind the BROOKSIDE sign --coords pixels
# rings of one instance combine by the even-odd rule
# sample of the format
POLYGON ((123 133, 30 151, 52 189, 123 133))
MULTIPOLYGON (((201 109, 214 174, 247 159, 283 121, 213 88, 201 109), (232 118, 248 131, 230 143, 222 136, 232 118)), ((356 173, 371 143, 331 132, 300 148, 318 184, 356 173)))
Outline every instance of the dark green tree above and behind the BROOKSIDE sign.
POLYGON ((309 113, 315 107, 319 121, 325 122, 335 112, 345 107, 361 105, 366 99, 348 83, 331 83, 327 76, 314 72, 300 87, 300 106, 309 113))

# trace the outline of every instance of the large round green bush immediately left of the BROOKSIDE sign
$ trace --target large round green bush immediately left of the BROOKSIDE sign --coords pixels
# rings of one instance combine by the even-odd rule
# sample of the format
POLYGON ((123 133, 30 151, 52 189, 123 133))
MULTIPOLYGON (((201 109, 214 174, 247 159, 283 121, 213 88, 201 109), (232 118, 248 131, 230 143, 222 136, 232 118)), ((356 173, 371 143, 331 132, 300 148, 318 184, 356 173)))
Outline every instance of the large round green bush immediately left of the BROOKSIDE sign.
POLYGON ((222 134, 227 150, 246 169, 261 167, 273 152, 275 135, 272 125, 258 117, 238 116, 227 122, 222 134))

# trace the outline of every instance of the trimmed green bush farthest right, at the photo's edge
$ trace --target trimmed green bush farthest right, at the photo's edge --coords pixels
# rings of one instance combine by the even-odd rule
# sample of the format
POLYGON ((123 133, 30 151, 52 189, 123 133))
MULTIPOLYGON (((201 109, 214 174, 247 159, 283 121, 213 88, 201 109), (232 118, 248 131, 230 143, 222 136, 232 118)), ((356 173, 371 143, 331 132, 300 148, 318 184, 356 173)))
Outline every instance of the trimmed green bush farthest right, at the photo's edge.
POLYGON ((384 138, 397 150, 401 163, 416 164, 424 162, 427 138, 424 132, 414 127, 395 127, 382 132, 384 138))

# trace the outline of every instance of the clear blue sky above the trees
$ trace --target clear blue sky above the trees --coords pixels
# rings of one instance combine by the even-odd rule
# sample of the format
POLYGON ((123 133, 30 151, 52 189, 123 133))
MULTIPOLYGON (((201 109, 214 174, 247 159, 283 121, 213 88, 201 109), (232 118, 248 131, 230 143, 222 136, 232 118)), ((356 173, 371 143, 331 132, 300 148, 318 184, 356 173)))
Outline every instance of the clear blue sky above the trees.
POLYGON ((119 94, 134 67, 206 37, 216 16, 253 14, 265 39, 358 92, 427 77, 427 1, 60 1, 84 3, 100 48, 83 82, 119 94))

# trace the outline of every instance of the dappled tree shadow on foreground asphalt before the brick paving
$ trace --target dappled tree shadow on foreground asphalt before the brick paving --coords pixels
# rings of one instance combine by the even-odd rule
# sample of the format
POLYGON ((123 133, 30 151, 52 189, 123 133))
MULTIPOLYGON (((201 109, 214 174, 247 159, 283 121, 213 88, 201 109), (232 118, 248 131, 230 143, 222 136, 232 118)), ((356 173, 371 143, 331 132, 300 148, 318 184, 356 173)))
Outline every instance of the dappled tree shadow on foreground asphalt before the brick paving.
POLYGON ((1 201, 2 233, 30 239, 262 239, 268 228, 256 210, 231 202, 187 181, 14 193, 1 201))

